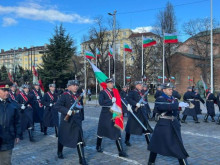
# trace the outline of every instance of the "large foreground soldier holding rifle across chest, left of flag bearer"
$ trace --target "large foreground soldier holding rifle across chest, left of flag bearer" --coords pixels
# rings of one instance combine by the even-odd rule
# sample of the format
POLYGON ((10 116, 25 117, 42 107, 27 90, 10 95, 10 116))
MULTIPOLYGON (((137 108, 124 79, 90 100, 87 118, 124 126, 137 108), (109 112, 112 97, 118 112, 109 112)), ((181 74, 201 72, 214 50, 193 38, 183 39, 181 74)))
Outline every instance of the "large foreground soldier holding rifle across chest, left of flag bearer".
POLYGON ((83 143, 83 98, 74 107, 74 111, 70 107, 74 104, 75 100, 80 96, 77 92, 79 88, 78 80, 69 80, 67 83, 67 91, 64 92, 58 99, 54 108, 61 113, 59 132, 58 132, 58 158, 63 159, 63 146, 69 148, 76 148, 79 155, 79 163, 86 165, 84 157, 84 143, 83 143), (69 120, 65 121, 66 115, 69 120))

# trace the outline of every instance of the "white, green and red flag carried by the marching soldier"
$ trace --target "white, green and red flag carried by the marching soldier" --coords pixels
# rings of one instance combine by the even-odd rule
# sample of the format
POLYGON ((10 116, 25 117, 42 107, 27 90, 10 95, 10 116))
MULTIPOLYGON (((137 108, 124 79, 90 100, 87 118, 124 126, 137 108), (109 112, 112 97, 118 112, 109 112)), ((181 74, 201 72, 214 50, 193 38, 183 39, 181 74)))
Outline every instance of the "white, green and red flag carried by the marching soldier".
MULTIPOLYGON (((99 68, 97 68, 93 63, 91 63, 90 60, 88 60, 88 61, 89 61, 90 65, 92 66, 92 69, 95 73, 96 79, 98 80, 100 85, 103 87, 103 89, 106 89, 107 85, 106 85, 105 81, 106 81, 106 79, 108 79, 108 77, 101 70, 99 70, 99 68)), ((123 130, 124 123, 123 123, 123 115, 122 115, 121 97, 118 92, 118 89, 113 88, 112 91, 113 91, 114 97, 116 98, 116 102, 111 107, 112 119, 115 123, 114 126, 119 128, 120 130, 123 130)))

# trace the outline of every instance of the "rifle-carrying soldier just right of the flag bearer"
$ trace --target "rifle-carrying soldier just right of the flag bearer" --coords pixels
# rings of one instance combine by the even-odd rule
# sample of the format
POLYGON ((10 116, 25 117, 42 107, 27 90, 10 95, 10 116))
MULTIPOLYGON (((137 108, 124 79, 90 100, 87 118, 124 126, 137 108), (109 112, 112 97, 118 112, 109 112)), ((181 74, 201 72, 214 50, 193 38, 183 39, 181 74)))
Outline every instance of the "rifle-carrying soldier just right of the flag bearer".
POLYGON ((142 126, 137 122, 137 120, 130 114, 125 128, 125 132, 126 132, 125 144, 127 146, 131 146, 129 142, 131 134, 142 135, 144 133, 146 142, 147 144, 149 144, 150 134, 153 132, 153 129, 148 123, 146 106, 144 103, 139 103, 140 99, 143 97, 142 89, 143 89, 142 81, 136 81, 135 89, 128 93, 127 101, 132 106, 133 113, 147 128, 147 131, 145 131, 142 128, 142 126))

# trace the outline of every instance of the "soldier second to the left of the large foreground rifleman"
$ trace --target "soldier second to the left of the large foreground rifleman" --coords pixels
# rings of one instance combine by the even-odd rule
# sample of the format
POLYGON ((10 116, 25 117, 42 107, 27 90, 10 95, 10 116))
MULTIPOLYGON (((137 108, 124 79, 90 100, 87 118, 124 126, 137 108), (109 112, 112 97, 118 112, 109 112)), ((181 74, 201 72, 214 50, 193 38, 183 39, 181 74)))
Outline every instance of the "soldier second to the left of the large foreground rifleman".
POLYGON ((40 84, 35 83, 34 89, 30 92, 33 95, 33 110, 34 110, 34 123, 40 123, 41 132, 44 132, 43 127, 43 114, 44 106, 41 103, 42 94, 40 90, 40 84))

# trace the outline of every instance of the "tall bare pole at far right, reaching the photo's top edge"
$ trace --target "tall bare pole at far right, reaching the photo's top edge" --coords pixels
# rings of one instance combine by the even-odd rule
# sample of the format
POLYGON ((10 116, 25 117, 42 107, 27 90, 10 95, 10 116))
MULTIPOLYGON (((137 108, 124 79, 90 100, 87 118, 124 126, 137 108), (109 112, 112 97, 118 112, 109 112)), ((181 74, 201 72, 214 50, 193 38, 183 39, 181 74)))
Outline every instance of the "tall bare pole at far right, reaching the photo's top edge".
POLYGON ((212 13, 212 0, 210 0, 210 28, 211 28, 211 31, 210 31, 210 40, 211 40, 211 45, 210 45, 210 49, 211 49, 211 54, 210 54, 210 63, 211 63, 211 78, 210 78, 210 80, 211 80, 211 92, 213 93, 213 91, 214 91, 214 83, 213 83, 213 20, 212 20, 212 17, 213 17, 213 13, 212 13))

